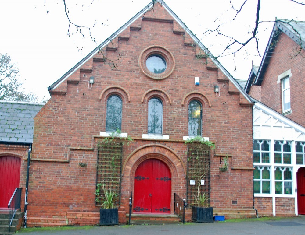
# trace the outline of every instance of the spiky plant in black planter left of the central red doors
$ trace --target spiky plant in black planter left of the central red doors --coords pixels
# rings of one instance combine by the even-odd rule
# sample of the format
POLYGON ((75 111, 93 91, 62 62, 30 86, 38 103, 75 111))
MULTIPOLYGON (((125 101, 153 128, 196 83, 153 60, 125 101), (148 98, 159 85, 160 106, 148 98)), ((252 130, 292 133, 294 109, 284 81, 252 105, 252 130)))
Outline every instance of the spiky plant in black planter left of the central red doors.
POLYGON ((100 199, 96 199, 102 203, 102 208, 99 210, 99 225, 118 225, 119 213, 117 207, 115 207, 117 193, 111 189, 106 190, 104 185, 98 184, 95 191, 96 195, 99 195, 100 188, 103 189, 104 195, 100 199))

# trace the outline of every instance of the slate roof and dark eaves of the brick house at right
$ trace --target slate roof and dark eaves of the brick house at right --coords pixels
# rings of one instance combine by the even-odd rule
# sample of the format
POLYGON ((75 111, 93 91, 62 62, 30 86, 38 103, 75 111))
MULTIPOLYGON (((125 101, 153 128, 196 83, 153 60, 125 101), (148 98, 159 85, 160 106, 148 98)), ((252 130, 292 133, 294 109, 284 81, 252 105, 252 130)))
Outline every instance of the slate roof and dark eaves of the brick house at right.
POLYGON ((258 67, 257 71, 251 71, 249 75, 249 79, 245 86, 246 93, 249 93, 251 85, 260 86, 262 83, 265 70, 269 64, 270 58, 272 57, 272 53, 280 33, 285 33, 294 42, 296 42, 296 44, 305 49, 305 22, 276 18, 260 66, 258 67))

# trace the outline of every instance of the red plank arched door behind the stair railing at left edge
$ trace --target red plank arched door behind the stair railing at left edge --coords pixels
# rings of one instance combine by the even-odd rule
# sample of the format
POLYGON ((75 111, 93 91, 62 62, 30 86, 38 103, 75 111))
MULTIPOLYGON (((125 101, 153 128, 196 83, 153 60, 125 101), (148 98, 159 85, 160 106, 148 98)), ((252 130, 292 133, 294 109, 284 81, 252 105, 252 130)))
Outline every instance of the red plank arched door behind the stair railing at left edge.
POLYGON ((8 209, 7 205, 20 181, 19 157, 0 157, 0 209, 8 209))

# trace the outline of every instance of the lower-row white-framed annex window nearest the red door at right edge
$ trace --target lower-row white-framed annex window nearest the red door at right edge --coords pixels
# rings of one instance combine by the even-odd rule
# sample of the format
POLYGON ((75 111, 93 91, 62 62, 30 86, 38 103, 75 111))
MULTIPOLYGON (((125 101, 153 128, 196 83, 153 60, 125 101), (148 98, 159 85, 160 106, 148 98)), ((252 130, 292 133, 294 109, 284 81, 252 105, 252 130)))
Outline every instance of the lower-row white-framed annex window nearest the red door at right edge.
POLYGON ((292 167, 275 167, 275 194, 292 194, 292 167))

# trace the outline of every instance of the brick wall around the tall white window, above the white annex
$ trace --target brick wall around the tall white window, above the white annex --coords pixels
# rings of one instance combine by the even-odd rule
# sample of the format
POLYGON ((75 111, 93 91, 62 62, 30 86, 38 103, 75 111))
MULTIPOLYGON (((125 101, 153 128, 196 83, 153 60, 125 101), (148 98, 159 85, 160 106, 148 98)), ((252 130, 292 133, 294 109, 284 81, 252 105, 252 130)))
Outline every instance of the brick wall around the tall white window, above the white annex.
MULTIPOLYGON (((305 77, 305 58, 302 56, 305 51, 285 33, 280 33, 276 46, 270 58, 269 65, 264 73, 264 80, 261 84, 260 101, 268 107, 282 113, 282 85, 278 82, 278 75, 291 70, 292 76, 289 77, 290 82, 290 105, 291 113, 285 114, 287 118, 296 123, 305 126, 305 117, 303 110, 305 109, 305 94, 303 92, 305 77)), ((254 86, 253 86, 254 87, 254 86)), ((256 97, 256 89, 249 93, 253 98, 256 97)))

